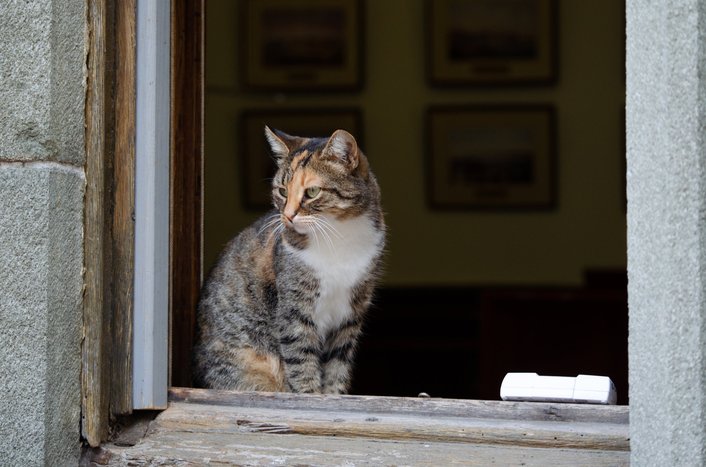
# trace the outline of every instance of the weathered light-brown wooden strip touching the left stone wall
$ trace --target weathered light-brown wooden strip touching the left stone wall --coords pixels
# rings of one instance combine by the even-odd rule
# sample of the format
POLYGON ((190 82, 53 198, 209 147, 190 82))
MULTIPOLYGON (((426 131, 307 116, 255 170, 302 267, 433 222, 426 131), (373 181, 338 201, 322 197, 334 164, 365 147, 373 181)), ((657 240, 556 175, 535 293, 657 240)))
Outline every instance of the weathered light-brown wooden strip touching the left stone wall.
POLYGON ((108 434, 110 404, 111 3, 88 2, 81 430, 91 446, 108 434))

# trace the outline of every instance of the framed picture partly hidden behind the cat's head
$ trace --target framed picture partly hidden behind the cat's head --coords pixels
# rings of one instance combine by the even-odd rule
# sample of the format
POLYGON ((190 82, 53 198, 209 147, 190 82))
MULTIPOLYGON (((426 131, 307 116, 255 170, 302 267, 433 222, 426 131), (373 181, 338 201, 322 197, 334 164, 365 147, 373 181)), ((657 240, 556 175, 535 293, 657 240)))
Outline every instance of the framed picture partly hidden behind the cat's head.
POLYGON ((240 168, 243 204, 246 209, 272 207, 271 180, 277 170, 265 125, 292 136, 328 137, 338 129, 351 133, 363 145, 362 117, 358 109, 252 110, 241 116, 240 168))

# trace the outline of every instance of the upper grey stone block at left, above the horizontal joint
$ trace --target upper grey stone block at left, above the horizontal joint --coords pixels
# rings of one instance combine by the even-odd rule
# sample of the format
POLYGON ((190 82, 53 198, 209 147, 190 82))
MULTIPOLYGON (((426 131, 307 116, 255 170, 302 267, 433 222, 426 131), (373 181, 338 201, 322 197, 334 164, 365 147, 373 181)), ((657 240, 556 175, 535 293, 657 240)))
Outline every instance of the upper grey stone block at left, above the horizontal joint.
POLYGON ((0 160, 83 165, 85 10, 85 0, 0 2, 0 160))

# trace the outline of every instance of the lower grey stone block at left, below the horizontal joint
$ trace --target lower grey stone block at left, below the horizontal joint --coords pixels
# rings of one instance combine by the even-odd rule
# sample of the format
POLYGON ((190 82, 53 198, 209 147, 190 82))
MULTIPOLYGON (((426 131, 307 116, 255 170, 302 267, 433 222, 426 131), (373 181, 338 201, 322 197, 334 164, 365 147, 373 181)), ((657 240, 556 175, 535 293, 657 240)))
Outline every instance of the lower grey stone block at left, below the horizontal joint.
POLYGON ((0 164, 2 465, 78 455, 83 184, 77 168, 0 164))

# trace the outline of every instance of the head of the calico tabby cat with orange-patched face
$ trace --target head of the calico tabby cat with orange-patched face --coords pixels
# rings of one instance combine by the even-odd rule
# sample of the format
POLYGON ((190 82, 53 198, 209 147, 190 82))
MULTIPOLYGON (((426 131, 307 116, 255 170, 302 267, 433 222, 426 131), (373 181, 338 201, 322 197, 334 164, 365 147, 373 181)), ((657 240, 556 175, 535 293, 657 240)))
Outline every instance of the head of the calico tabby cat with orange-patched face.
POLYGON ((290 230, 306 234, 317 217, 345 220, 379 204, 368 160, 347 131, 304 138, 265 127, 265 136, 277 162, 273 204, 290 230))

